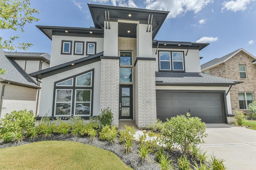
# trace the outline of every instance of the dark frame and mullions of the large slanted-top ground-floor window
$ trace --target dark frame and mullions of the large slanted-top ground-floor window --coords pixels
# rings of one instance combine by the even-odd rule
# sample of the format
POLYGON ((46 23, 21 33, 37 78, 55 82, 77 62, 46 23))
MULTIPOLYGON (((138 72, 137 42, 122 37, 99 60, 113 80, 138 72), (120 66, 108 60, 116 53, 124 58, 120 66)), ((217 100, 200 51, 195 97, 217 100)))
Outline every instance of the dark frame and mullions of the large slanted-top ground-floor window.
MULTIPOLYGON (((58 80, 54 82, 54 95, 53 95, 53 104, 52 104, 52 117, 70 117, 75 116, 75 109, 76 109, 76 90, 90 90, 90 113, 88 115, 78 115, 80 117, 83 117, 85 119, 88 119, 88 117, 92 116, 93 113, 93 94, 94 94, 94 68, 91 70, 87 70, 85 72, 64 78, 62 80, 58 80), (91 86, 76 86, 76 77, 81 76, 83 74, 87 74, 89 72, 92 72, 91 74, 91 86), (65 80, 73 79, 72 86, 56 86, 58 83, 63 82, 65 80), (56 115, 56 99, 57 99, 57 90, 72 90, 72 100, 70 104, 70 115, 56 115)), ((81 103, 81 102, 80 102, 81 103)), ((83 102, 82 102, 83 103, 83 102)))

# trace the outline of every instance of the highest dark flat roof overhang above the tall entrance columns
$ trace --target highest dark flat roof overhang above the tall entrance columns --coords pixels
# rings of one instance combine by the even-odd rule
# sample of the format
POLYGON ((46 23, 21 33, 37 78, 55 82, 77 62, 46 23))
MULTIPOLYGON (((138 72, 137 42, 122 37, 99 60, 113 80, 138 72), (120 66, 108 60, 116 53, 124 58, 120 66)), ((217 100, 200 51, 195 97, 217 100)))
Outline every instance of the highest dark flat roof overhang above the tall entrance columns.
MULTIPOLYGON (((102 27, 105 20, 105 11, 109 12, 110 21, 118 20, 130 20, 139 21, 142 24, 148 24, 149 15, 152 19, 152 39, 158 33, 160 27, 162 26, 164 20, 169 14, 168 11, 158 11, 158 10, 147 10, 140 8, 128 8, 120 6, 107 6, 107 5, 96 5, 88 4, 90 13, 92 15, 92 20, 95 27, 102 27), (131 14, 132 16, 128 16, 131 14)), ((107 17, 108 18, 108 17, 107 17)))

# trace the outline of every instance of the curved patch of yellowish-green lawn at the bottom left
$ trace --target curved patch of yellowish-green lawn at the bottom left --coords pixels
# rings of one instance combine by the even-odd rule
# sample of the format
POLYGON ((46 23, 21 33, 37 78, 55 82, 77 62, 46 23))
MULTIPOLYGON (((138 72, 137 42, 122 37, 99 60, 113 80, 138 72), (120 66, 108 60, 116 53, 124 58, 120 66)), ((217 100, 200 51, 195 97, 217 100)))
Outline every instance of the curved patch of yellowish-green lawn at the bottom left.
POLYGON ((0 149, 0 169, 131 170, 110 151, 71 141, 42 141, 0 149))

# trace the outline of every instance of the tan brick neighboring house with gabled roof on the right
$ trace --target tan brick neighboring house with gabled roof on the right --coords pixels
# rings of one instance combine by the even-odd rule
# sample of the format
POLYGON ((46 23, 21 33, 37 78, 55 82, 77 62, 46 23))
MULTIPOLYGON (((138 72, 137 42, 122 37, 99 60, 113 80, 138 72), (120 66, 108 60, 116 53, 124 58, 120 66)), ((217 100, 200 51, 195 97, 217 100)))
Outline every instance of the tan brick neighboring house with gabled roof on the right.
POLYGON ((256 57, 238 49, 221 58, 201 65, 205 74, 230 78, 243 82, 230 90, 232 113, 236 110, 248 112, 248 104, 256 98, 256 57))

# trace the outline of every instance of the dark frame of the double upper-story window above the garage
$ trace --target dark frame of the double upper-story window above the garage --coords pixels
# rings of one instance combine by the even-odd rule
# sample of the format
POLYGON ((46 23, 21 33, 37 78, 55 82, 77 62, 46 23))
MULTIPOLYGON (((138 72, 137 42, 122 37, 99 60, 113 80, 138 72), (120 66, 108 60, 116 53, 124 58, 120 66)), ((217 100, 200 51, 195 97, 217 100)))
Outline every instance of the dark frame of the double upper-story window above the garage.
POLYGON ((185 69, 185 56, 184 56, 184 51, 168 51, 168 50, 158 50, 158 71, 159 72, 186 72, 185 69), (170 70, 168 69, 161 69, 161 61, 165 60, 160 60, 160 52, 169 52, 170 53, 170 70), (173 69, 173 62, 180 62, 180 61, 173 61, 173 55, 172 53, 182 53, 182 66, 183 70, 174 70, 173 69))

